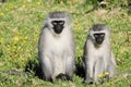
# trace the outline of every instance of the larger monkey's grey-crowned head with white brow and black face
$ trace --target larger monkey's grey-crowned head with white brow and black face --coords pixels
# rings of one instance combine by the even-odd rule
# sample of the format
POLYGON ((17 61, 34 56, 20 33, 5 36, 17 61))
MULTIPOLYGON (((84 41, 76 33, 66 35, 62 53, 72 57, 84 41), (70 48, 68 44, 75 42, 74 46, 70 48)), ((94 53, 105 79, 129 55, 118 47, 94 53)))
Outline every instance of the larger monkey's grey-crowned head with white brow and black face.
POLYGON ((62 11, 49 13, 46 21, 47 26, 55 34, 61 34, 67 26, 70 26, 69 14, 62 11))

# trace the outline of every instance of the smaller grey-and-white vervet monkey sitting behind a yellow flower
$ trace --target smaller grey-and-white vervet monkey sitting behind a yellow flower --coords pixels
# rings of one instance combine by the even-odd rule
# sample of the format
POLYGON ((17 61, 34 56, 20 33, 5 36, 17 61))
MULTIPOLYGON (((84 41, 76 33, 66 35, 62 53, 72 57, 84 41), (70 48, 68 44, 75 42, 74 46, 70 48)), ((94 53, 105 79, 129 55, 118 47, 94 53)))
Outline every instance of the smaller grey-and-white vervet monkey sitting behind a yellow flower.
POLYGON ((84 46, 83 62, 85 67, 84 83, 103 83, 99 74, 108 72, 107 78, 116 74, 116 61, 110 49, 110 30, 104 24, 93 25, 84 46))

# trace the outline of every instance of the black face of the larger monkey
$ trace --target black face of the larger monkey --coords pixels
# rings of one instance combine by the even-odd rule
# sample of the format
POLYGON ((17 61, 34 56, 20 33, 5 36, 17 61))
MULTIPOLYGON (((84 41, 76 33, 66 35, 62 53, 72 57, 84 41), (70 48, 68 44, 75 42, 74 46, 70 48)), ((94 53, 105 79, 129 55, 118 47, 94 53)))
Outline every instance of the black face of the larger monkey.
POLYGON ((64 21, 52 21, 51 22, 51 24, 52 24, 52 28, 53 28, 53 30, 55 30, 55 33, 57 33, 57 34, 60 34, 61 32, 62 32, 62 29, 64 28, 64 21))

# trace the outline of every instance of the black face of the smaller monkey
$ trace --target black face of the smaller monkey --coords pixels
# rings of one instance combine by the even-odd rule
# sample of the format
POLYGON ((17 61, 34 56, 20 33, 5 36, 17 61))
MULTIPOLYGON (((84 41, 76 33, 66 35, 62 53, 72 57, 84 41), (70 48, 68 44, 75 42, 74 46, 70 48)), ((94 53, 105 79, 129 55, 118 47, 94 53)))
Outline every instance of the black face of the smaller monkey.
POLYGON ((95 42, 102 45, 105 38, 105 33, 94 34, 95 42))

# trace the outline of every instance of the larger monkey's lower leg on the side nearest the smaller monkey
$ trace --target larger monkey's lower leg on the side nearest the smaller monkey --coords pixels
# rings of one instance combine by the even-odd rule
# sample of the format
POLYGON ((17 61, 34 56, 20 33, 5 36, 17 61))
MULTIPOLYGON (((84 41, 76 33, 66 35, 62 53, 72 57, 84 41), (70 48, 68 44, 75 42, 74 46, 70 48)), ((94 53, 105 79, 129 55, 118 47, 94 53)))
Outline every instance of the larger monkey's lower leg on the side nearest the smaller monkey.
POLYGON ((74 65, 74 58, 69 57, 66 62, 66 75, 67 79, 72 80, 73 72, 74 72, 75 65, 74 65))

